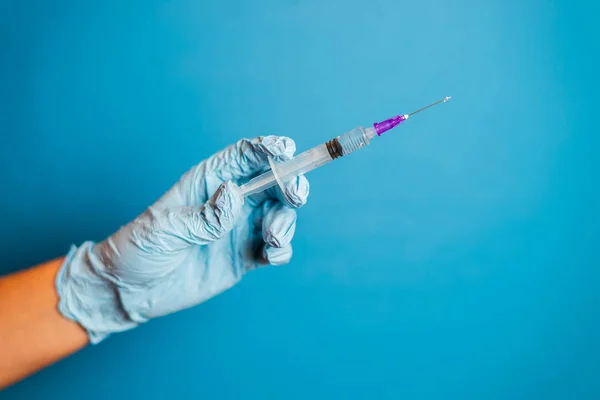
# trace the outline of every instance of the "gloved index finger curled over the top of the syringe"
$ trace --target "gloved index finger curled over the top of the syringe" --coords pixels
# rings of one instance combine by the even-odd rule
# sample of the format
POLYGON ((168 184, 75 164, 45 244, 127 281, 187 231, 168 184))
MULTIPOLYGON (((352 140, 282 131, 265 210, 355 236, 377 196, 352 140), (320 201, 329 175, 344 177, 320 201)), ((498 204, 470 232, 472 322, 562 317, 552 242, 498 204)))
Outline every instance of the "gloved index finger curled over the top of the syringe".
POLYGON ((285 136, 242 139, 208 159, 206 169, 224 181, 239 181, 268 166, 268 157, 283 161, 291 158, 295 151, 296 143, 285 136))

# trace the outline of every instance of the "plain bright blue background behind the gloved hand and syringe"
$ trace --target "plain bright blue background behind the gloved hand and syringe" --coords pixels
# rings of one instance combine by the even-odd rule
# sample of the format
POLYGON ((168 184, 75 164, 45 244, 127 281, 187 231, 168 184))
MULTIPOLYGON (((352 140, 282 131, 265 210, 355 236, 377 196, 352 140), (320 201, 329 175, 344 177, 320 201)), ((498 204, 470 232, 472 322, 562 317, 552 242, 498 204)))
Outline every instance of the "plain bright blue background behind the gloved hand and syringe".
POLYGON ((3 273, 242 136, 453 96, 309 176, 291 265, 3 400, 600 397, 598 2, 0 4, 3 273))

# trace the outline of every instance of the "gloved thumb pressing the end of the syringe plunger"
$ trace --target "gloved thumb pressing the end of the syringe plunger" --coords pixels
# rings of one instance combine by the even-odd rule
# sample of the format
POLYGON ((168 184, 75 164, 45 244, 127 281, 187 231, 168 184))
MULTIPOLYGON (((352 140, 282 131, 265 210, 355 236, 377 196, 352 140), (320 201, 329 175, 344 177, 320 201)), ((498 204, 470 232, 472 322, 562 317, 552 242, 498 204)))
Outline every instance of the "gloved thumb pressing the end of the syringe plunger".
POLYGON ((227 235, 240 215, 243 198, 233 182, 221 184, 201 207, 182 207, 177 210, 177 231, 192 244, 207 244, 227 235))

